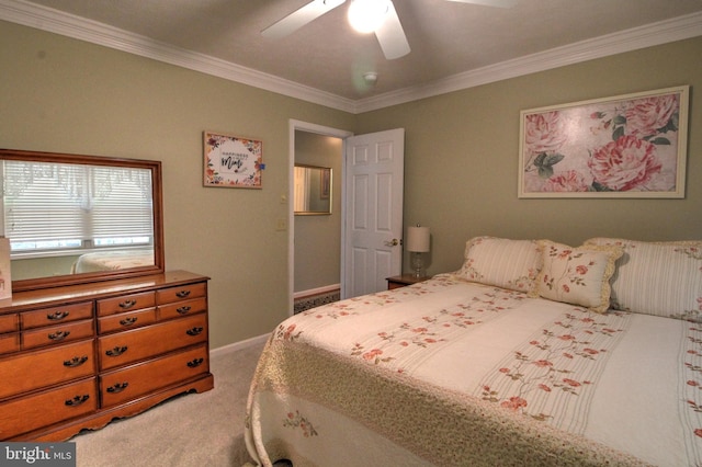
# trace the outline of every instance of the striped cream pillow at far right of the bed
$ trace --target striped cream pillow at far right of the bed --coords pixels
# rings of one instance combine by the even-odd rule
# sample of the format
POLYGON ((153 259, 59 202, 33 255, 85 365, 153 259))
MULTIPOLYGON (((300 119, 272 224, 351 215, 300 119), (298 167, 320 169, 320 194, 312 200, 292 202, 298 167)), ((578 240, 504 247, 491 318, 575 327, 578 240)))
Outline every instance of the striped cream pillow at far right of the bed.
POLYGON ((702 320, 702 241, 592 238, 586 243, 624 251, 612 277, 612 308, 702 320))

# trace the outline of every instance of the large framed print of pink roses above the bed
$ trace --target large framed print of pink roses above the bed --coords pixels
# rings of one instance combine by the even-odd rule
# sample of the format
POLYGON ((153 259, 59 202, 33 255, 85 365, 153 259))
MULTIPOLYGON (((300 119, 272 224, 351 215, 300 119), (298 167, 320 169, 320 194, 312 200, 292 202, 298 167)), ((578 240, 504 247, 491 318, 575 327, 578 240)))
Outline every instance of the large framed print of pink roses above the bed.
POLYGON ((519 197, 684 197, 689 87, 521 112, 519 197))

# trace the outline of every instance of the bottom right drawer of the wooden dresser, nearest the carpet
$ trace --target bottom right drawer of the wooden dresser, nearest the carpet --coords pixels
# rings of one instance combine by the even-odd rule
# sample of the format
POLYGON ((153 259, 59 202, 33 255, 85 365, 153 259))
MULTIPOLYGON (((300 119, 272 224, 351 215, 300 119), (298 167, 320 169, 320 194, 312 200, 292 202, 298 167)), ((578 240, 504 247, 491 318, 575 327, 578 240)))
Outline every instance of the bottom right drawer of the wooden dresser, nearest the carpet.
POLYGON ((208 371, 206 344, 136 364, 100 377, 102 405, 116 406, 208 371))

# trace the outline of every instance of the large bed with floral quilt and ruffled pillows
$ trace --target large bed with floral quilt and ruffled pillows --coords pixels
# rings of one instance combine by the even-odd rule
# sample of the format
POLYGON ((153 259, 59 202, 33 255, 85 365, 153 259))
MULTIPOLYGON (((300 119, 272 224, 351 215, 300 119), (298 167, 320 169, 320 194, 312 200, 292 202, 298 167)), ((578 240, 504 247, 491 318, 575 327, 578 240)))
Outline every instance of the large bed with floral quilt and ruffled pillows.
POLYGON ((702 242, 477 237, 295 315, 251 383, 269 466, 702 464, 702 242))

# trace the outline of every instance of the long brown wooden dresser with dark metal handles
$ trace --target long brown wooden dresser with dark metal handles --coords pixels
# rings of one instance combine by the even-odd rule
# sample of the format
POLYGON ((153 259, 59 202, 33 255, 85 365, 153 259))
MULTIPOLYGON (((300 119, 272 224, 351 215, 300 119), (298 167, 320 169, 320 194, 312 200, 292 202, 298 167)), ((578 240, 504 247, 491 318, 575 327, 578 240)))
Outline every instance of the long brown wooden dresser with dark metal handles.
POLYGON ((0 440, 63 441, 212 389, 207 281, 173 271, 0 300, 0 440))

